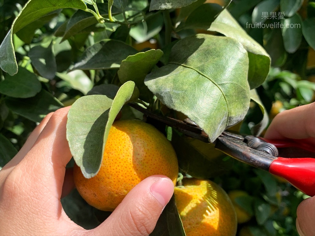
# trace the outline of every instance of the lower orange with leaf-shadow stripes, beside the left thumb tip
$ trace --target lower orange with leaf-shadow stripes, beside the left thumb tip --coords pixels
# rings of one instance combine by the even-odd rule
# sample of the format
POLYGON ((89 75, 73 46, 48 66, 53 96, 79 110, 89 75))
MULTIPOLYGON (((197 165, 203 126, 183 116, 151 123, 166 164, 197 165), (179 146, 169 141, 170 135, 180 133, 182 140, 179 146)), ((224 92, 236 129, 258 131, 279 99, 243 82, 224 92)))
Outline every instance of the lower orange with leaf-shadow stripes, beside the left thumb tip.
POLYGON ((184 179, 175 187, 178 212, 186 236, 235 235, 237 219, 226 192, 216 183, 184 179))

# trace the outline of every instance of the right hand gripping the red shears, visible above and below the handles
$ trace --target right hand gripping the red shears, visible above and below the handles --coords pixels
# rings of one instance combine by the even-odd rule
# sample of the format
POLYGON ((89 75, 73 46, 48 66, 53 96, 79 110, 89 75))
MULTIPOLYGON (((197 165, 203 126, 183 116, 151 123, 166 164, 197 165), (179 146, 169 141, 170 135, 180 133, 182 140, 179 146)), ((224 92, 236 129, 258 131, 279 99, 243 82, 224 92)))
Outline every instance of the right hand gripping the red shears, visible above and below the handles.
MULTIPOLYGON (((265 133, 265 138, 305 139, 305 142, 315 145, 315 103, 276 115, 265 133)), ((315 196, 303 200, 296 214, 296 228, 300 236, 315 235, 315 196)))

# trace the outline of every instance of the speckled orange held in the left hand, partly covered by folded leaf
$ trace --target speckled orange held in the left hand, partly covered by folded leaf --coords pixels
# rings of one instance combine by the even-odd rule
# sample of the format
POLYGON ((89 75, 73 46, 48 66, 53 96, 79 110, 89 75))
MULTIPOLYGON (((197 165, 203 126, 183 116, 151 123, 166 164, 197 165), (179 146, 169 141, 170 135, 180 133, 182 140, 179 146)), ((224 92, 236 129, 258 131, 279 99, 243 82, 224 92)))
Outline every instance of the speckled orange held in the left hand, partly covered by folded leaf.
POLYGON ((77 165, 73 170, 80 195, 103 211, 113 211, 136 184, 156 174, 169 177, 175 186, 175 151, 154 126, 137 120, 114 121, 100 171, 94 177, 85 178, 77 165))

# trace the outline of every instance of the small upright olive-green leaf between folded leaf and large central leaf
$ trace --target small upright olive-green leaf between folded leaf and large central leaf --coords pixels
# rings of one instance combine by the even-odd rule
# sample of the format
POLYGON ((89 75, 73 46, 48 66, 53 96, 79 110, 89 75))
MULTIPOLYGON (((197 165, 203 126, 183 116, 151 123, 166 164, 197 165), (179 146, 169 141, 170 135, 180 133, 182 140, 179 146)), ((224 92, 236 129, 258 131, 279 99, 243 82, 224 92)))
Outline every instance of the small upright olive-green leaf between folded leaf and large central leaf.
POLYGON ((153 98, 153 94, 144 84, 144 78, 151 72, 162 55, 162 50, 152 49, 127 57, 127 59, 122 61, 118 70, 120 82, 134 81, 140 91, 140 99, 147 102, 150 101, 153 98))

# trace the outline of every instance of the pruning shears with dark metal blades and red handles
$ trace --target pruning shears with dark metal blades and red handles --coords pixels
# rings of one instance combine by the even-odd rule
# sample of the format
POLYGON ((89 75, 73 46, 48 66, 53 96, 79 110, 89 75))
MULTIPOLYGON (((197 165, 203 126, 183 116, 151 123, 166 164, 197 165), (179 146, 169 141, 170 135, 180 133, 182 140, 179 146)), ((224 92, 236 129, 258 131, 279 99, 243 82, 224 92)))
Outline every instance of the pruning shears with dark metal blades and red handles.
MULTIPOLYGON (((189 119, 180 121, 148 112, 130 104, 147 118, 161 121, 189 137, 209 143, 208 135, 189 119)), ((236 160, 283 177, 295 188, 315 195, 315 146, 305 140, 267 140, 224 131, 215 141, 215 148, 236 160)))

